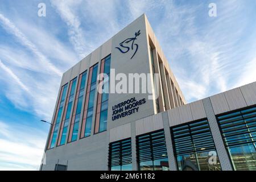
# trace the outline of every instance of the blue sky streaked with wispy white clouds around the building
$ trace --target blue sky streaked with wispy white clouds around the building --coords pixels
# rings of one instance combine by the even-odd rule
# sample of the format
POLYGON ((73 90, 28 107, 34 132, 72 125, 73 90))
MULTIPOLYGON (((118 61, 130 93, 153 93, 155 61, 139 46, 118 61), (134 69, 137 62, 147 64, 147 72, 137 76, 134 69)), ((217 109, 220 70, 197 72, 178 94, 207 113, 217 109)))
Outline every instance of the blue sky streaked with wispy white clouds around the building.
POLYGON ((61 74, 143 13, 188 102, 256 81, 255 8, 255 0, 0 1, 0 169, 39 168, 49 129, 39 121, 51 121, 61 74))

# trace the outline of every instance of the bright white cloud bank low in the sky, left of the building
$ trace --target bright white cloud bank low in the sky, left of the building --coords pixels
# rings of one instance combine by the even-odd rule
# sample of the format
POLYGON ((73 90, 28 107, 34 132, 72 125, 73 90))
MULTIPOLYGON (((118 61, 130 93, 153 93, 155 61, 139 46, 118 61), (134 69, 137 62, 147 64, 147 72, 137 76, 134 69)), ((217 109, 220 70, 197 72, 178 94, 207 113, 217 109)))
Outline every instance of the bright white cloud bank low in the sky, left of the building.
POLYGON ((42 161, 46 133, 0 121, 0 170, 38 170, 42 161))

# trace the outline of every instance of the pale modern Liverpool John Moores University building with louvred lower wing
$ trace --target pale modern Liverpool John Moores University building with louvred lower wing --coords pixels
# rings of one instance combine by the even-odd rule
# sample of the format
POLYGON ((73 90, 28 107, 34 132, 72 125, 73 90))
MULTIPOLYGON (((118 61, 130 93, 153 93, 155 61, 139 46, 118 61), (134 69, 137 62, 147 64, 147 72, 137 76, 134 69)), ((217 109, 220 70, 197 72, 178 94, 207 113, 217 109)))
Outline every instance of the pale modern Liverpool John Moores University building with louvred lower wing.
POLYGON ((255 140, 256 82, 187 104, 142 15, 63 74, 40 169, 256 170, 255 140), (98 92, 110 68, 158 97, 98 92))

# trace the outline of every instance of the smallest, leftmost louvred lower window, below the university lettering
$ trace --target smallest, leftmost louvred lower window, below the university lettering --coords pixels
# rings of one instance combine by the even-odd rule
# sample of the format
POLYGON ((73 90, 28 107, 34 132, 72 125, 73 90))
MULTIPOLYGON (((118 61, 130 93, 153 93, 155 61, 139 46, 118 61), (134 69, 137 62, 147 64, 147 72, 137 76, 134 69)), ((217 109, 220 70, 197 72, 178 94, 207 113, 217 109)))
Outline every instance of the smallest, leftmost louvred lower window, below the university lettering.
POLYGON ((109 144, 110 171, 131 171, 131 139, 109 144))

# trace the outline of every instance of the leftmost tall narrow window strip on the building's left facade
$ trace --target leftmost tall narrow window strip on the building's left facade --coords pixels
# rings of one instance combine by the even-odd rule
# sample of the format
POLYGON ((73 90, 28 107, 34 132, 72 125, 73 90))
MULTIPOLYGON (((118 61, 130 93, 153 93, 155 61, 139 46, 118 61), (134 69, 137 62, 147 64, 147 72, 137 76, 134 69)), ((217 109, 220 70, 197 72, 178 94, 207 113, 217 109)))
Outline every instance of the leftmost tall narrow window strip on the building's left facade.
POLYGON ((56 113, 55 113, 55 119, 54 119, 54 122, 52 125, 51 137, 49 139, 48 149, 55 147, 57 133, 59 130, 59 125, 60 125, 61 114, 63 111, 64 101, 65 101, 65 97, 66 97, 66 93, 67 93, 67 87, 68 87, 68 84, 64 85, 61 88, 59 102, 57 104, 57 109, 56 109, 56 113))

